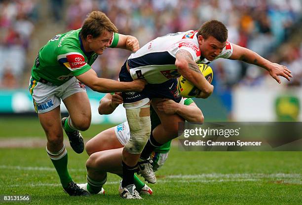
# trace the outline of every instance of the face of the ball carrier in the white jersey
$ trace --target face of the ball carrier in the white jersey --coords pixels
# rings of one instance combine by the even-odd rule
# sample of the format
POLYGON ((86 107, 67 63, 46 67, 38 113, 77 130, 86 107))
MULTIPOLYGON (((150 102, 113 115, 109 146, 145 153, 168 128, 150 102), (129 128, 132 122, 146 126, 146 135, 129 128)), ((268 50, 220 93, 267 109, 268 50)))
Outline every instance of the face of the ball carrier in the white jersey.
POLYGON ((220 42, 211 35, 207 39, 199 35, 198 43, 201 52, 201 57, 206 58, 208 61, 213 61, 226 46, 226 41, 220 42))

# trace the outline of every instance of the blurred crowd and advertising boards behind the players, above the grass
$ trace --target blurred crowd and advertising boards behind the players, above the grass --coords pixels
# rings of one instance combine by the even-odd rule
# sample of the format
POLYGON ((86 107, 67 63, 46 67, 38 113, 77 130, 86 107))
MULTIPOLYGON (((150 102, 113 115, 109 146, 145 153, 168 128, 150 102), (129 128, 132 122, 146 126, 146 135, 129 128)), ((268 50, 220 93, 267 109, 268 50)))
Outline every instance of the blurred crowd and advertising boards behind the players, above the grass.
MULTIPOLYGON (((217 60, 214 94, 196 100, 207 121, 302 121, 301 0, 0 0, 0 115, 33 115, 28 93, 38 50, 55 34, 81 27, 93 11, 105 12, 121 34, 151 39, 197 30, 210 19, 227 25, 229 41, 250 48, 293 72, 278 85, 264 69, 217 60)), ((99 76, 117 79, 129 52, 108 49, 93 64, 99 76)), ((122 108, 99 116, 102 94, 87 88, 93 123, 119 123, 122 108)), ((63 104, 62 104, 63 105, 63 104)), ((63 105, 63 112, 66 108, 63 105)))

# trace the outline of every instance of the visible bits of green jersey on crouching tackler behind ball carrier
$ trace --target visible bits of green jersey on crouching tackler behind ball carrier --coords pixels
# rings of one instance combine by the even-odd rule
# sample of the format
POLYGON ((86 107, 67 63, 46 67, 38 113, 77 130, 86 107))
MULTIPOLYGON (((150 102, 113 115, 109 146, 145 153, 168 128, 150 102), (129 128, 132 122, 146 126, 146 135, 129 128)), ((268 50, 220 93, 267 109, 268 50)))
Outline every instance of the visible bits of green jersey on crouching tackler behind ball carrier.
MULTIPOLYGON (((194 102, 191 98, 184 98, 184 104, 185 105, 189 105, 192 102, 194 102)), ((156 112, 154 111, 154 109, 152 108, 152 106, 150 106, 150 114, 151 114, 151 130, 153 130, 157 125, 160 124, 160 119, 158 117, 158 115, 156 114, 156 112)), ((166 143, 164 143, 163 145, 161 145, 160 147, 156 148, 154 150, 154 152, 158 152, 158 153, 167 153, 170 151, 171 148, 171 141, 168 141, 166 143)))

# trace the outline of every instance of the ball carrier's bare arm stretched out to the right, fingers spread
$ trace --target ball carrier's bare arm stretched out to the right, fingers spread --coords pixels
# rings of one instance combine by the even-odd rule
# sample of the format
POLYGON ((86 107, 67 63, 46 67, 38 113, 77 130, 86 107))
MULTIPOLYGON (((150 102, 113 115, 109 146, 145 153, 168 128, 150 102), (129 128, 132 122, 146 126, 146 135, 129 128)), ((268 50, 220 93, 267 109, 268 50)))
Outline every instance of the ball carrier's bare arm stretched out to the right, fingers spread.
POLYGON ((286 78, 288 81, 290 81, 290 77, 293 77, 291 74, 292 72, 285 66, 272 63, 250 49, 243 48, 236 44, 232 44, 232 46, 233 53, 229 59, 240 60, 249 64, 260 66, 266 69, 278 83, 281 83, 278 75, 286 78))

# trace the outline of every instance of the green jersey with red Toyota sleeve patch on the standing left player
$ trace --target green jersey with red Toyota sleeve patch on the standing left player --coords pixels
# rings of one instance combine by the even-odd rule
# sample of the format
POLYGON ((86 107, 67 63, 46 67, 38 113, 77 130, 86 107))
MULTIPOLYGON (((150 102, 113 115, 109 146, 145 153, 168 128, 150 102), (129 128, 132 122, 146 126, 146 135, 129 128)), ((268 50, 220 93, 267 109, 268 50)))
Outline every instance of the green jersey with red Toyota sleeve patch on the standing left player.
MULTIPOLYGON (((57 34, 39 50, 32 68, 34 79, 40 81, 42 78, 59 86, 91 68, 98 54, 84 51, 79 37, 80 30, 57 34)), ((117 43, 118 34, 114 33, 110 47, 116 47, 117 43)))

